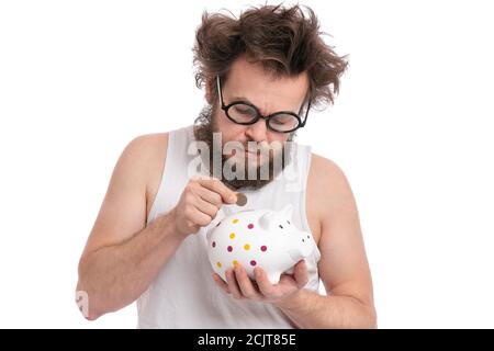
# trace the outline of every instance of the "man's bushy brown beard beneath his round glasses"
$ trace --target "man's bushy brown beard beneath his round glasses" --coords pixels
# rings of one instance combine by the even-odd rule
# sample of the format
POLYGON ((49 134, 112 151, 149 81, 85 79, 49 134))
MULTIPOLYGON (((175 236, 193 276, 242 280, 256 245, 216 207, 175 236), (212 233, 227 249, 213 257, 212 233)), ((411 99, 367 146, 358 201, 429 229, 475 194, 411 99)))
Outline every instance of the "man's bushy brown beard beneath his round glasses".
MULTIPOLYGON (((237 154, 239 152, 235 152, 236 150, 234 150, 232 155, 223 155, 223 145, 217 145, 217 140, 215 140, 214 138, 214 134, 221 133, 215 124, 214 115, 215 107, 213 107, 212 105, 206 105, 202 109, 201 113, 194 122, 194 136, 197 141, 204 141, 209 147, 209 157, 202 154, 201 157, 203 158, 204 165, 207 167, 210 176, 213 177, 213 174, 221 174, 220 180, 226 186, 234 190, 244 188, 252 190, 260 189, 274 180, 276 177, 280 174, 283 169, 290 163, 291 151, 290 148, 287 149, 285 147, 281 147, 278 150, 273 148, 266 149, 262 147, 258 147, 256 149, 257 157, 255 158, 243 157, 243 155, 238 157, 237 154), (263 161, 261 161, 259 155, 261 149, 268 150, 269 157, 267 160, 265 159, 263 161), (221 155, 215 155, 215 152, 221 155), (277 158, 280 161, 276 161, 277 158), (221 165, 215 165, 213 160, 216 160, 216 163, 217 160, 221 160, 221 165), (216 171, 214 171, 214 167, 217 167, 216 171), (240 170, 240 174, 244 174, 244 177, 232 177, 227 172, 228 167, 233 170, 240 170), (245 177, 246 172, 249 177, 245 177)), ((295 133, 292 132, 288 138, 288 141, 292 141, 294 135, 295 133)), ((256 143, 254 140, 247 141, 249 143, 249 145, 251 143, 256 143)), ((244 145, 244 151, 249 149, 247 145, 245 145, 244 143, 242 144, 244 145)), ((262 143, 256 144, 258 145, 262 143)))

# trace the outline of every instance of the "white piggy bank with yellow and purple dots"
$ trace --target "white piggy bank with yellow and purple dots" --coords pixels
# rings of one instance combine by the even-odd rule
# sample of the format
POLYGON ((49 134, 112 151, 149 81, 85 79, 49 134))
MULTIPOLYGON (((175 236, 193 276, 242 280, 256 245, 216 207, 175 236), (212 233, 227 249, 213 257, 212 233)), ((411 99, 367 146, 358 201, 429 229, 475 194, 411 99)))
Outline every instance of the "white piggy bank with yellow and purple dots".
POLYGON ((292 273, 315 248, 311 235, 293 226, 292 213, 287 205, 279 212, 250 210, 221 219, 206 235, 213 270, 226 281, 225 271, 240 263, 254 280, 254 269, 261 267, 278 284, 282 273, 292 273))

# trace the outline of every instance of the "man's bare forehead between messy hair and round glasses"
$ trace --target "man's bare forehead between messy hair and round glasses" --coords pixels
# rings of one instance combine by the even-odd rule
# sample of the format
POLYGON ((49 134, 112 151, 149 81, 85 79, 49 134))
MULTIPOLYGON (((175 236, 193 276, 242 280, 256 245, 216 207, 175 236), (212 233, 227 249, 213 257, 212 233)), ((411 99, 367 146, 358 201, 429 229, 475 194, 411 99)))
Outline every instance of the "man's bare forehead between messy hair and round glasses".
POLYGON ((277 101, 284 105, 297 105, 305 98, 308 78, 306 72, 294 77, 273 77, 260 63, 249 63, 242 56, 233 63, 225 88, 231 97, 246 98, 252 103, 277 101))

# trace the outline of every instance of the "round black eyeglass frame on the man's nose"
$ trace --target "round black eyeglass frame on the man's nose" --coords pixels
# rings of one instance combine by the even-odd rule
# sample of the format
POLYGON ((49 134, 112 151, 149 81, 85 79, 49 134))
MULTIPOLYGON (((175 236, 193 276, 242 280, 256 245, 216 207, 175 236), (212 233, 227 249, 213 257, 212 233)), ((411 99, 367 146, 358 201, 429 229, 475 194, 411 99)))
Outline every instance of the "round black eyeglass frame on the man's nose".
POLYGON ((225 103, 223 101, 222 83, 221 83, 221 80, 220 80, 220 76, 216 76, 216 82, 217 82, 216 86, 217 86, 217 92, 218 92, 218 95, 220 95, 220 102, 222 103, 222 110, 225 112, 226 117, 228 120, 231 120, 232 122, 236 123, 236 124, 252 125, 252 124, 256 124, 260 118, 262 118, 262 120, 266 121, 266 126, 270 131, 273 131, 273 132, 277 132, 277 133, 293 133, 296 129, 304 127, 305 123, 307 122, 308 111, 311 110, 311 100, 308 100, 308 103, 307 103, 307 111, 305 112, 304 121, 301 120, 299 114, 302 113, 302 110, 304 107, 305 102, 302 103, 302 106, 300 107, 299 114, 296 114, 296 113, 294 113, 292 111, 279 111, 279 112, 274 112, 274 113, 271 113, 271 114, 265 116, 262 113, 260 113, 259 109, 255 104, 252 104, 252 103, 250 103, 248 101, 237 100, 237 101, 233 101, 229 104, 225 105, 225 103), (234 118, 232 118, 229 116, 229 114, 228 114, 228 110, 229 110, 229 107, 232 107, 234 105, 238 105, 238 104, 246 104, 246 105, 252 107, 254 111, 256 111, 256 113, 257 113, 256 117, 252 121, 250 121, 250 122, 237 122, 234 118), (294 128, 292 128, 290 131, 277 131, 277 129, 272 128, 271 125, 269 124, 269 120, 271 120, 272 117, 274 117, 277 115, 280 115, 280 114, 290 114, 290 115, 294 116, 299 121, 299 124, 296 125, 296 127, 294 127, 294 128))

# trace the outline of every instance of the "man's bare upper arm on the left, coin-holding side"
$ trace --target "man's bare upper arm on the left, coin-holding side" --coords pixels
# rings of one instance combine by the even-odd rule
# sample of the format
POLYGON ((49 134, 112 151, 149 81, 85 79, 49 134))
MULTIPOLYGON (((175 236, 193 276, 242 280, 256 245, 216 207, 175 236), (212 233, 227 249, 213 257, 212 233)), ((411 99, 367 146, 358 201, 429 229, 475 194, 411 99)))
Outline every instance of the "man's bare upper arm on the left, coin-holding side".
POLYGON ((125 147, 114 167, 83 254, 122 242, 146 226, 146 193, 150 173, 156 168, 158 145, 162 146, 158 135, 143 135, 125 147))

